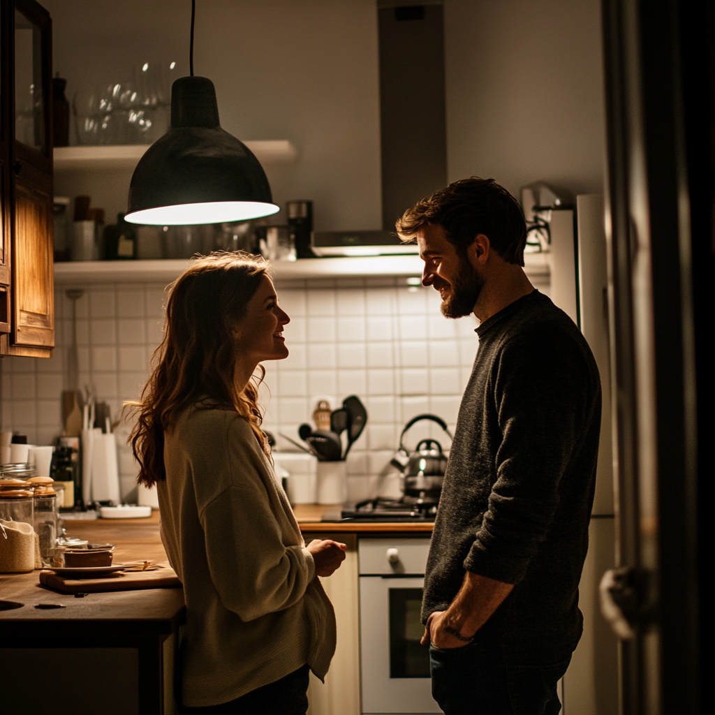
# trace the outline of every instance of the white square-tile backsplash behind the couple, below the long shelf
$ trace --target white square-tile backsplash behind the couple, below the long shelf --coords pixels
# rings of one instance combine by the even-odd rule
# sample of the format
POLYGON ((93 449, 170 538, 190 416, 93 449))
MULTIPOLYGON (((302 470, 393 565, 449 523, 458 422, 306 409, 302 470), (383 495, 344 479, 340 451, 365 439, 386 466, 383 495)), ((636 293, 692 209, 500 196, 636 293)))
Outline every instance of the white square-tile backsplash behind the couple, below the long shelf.
MULTIPOLYGON (((164 286, 85 290, 77 300, 80 386, 92 383, 116 419, 122 400, 139 397, 151 355, 162 340, 164 286)), ((454 427, 477 349, 475 320, 445 319, 435 291, 407 287, 392 277, 292 281, 288 287, 278 283, 277 293, 291 318, 285 327, 290 355, 265 364, 265 428, 281 449, 295 449, 279 433, 298 440, 298 425, 312 423, 318 399, 328 398, 337 408, 347 395, 359 395, 368 425, 347 460, 350 498, 369 498, 378 491, 396 495, 399 480, 390 459, 405 422, 433 412, 454 427)), ((60 433, 71 315, 72 303, 58 289, 53 357, 0 360, 3 428, 27 434, 31 443, 51 443, 60 433)), ((128 430, 122 430, 126 438, 128 430)), ((433 423, 415 425, 407 445, 428 436, 448 448, 447 436, 433 423)), ((282 458, 289 460, 289 471, 310 463, 302 455, 293 459, 295 464, 290 455, 282 458)), ((123 493, 131 494, 137 465, 125 445, 119 449, 119 470, 123 493)))

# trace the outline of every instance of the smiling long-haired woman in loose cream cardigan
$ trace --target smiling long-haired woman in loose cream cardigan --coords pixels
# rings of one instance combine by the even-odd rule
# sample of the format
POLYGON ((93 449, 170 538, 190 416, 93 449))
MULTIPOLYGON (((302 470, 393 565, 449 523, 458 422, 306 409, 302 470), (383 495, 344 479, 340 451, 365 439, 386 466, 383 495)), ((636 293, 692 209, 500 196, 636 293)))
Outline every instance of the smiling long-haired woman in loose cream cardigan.
POLYGON ((304 714, 335 616, 315 576, 345 545, 305 546, 261 430, 261 360, 290 321, 262 258, 216 253, 172 285, 158 362, 134 403, 139 482, 157 485, 162 541, 184 585, 182 711, 304 714), (260 378, 255 376, 260 371, 260 378))

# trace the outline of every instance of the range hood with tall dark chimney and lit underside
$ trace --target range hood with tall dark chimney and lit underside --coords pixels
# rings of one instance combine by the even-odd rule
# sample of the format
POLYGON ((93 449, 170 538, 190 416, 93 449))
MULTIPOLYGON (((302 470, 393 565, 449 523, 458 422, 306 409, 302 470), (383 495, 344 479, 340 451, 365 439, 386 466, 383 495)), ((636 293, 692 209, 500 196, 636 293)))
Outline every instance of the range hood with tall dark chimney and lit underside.
POLYGON ((405 5, 378 2, 383 230, 315 232, 318 256, 417 255, 417 244, 400 243, 395 220, 448 183, 442 3, 405 5), (405 112, 415 95, 430 101, 405 112))

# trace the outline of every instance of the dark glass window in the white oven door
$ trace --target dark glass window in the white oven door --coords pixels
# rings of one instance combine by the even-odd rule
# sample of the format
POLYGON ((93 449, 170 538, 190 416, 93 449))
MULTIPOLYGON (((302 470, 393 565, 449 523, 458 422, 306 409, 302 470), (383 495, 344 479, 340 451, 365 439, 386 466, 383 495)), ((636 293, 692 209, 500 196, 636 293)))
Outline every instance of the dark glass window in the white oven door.
POLYGON ((390 588, 390 678, 429 678, 430 651, 420 646, 421 588, 390 588))

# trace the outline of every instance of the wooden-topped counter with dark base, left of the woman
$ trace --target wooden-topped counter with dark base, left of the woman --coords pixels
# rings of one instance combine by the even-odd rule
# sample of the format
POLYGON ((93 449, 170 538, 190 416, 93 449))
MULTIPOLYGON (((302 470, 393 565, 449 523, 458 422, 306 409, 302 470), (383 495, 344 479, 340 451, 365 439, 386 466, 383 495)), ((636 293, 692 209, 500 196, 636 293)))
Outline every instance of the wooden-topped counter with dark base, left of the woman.
MULTIPOLYGON (((166 561, 159 514, 65 521, 67 533, 116 545, 115 563, 166 561)), ((8 712, 159 715, 174 712, 174 661, 184 622, 181 588, 90 593, 41 586, 39 571, 0 575, 0 688, 8 712), (39 604, 60 608, 36 608, 39 604), (28 687, 26 674, 43 673, 28 687)))

